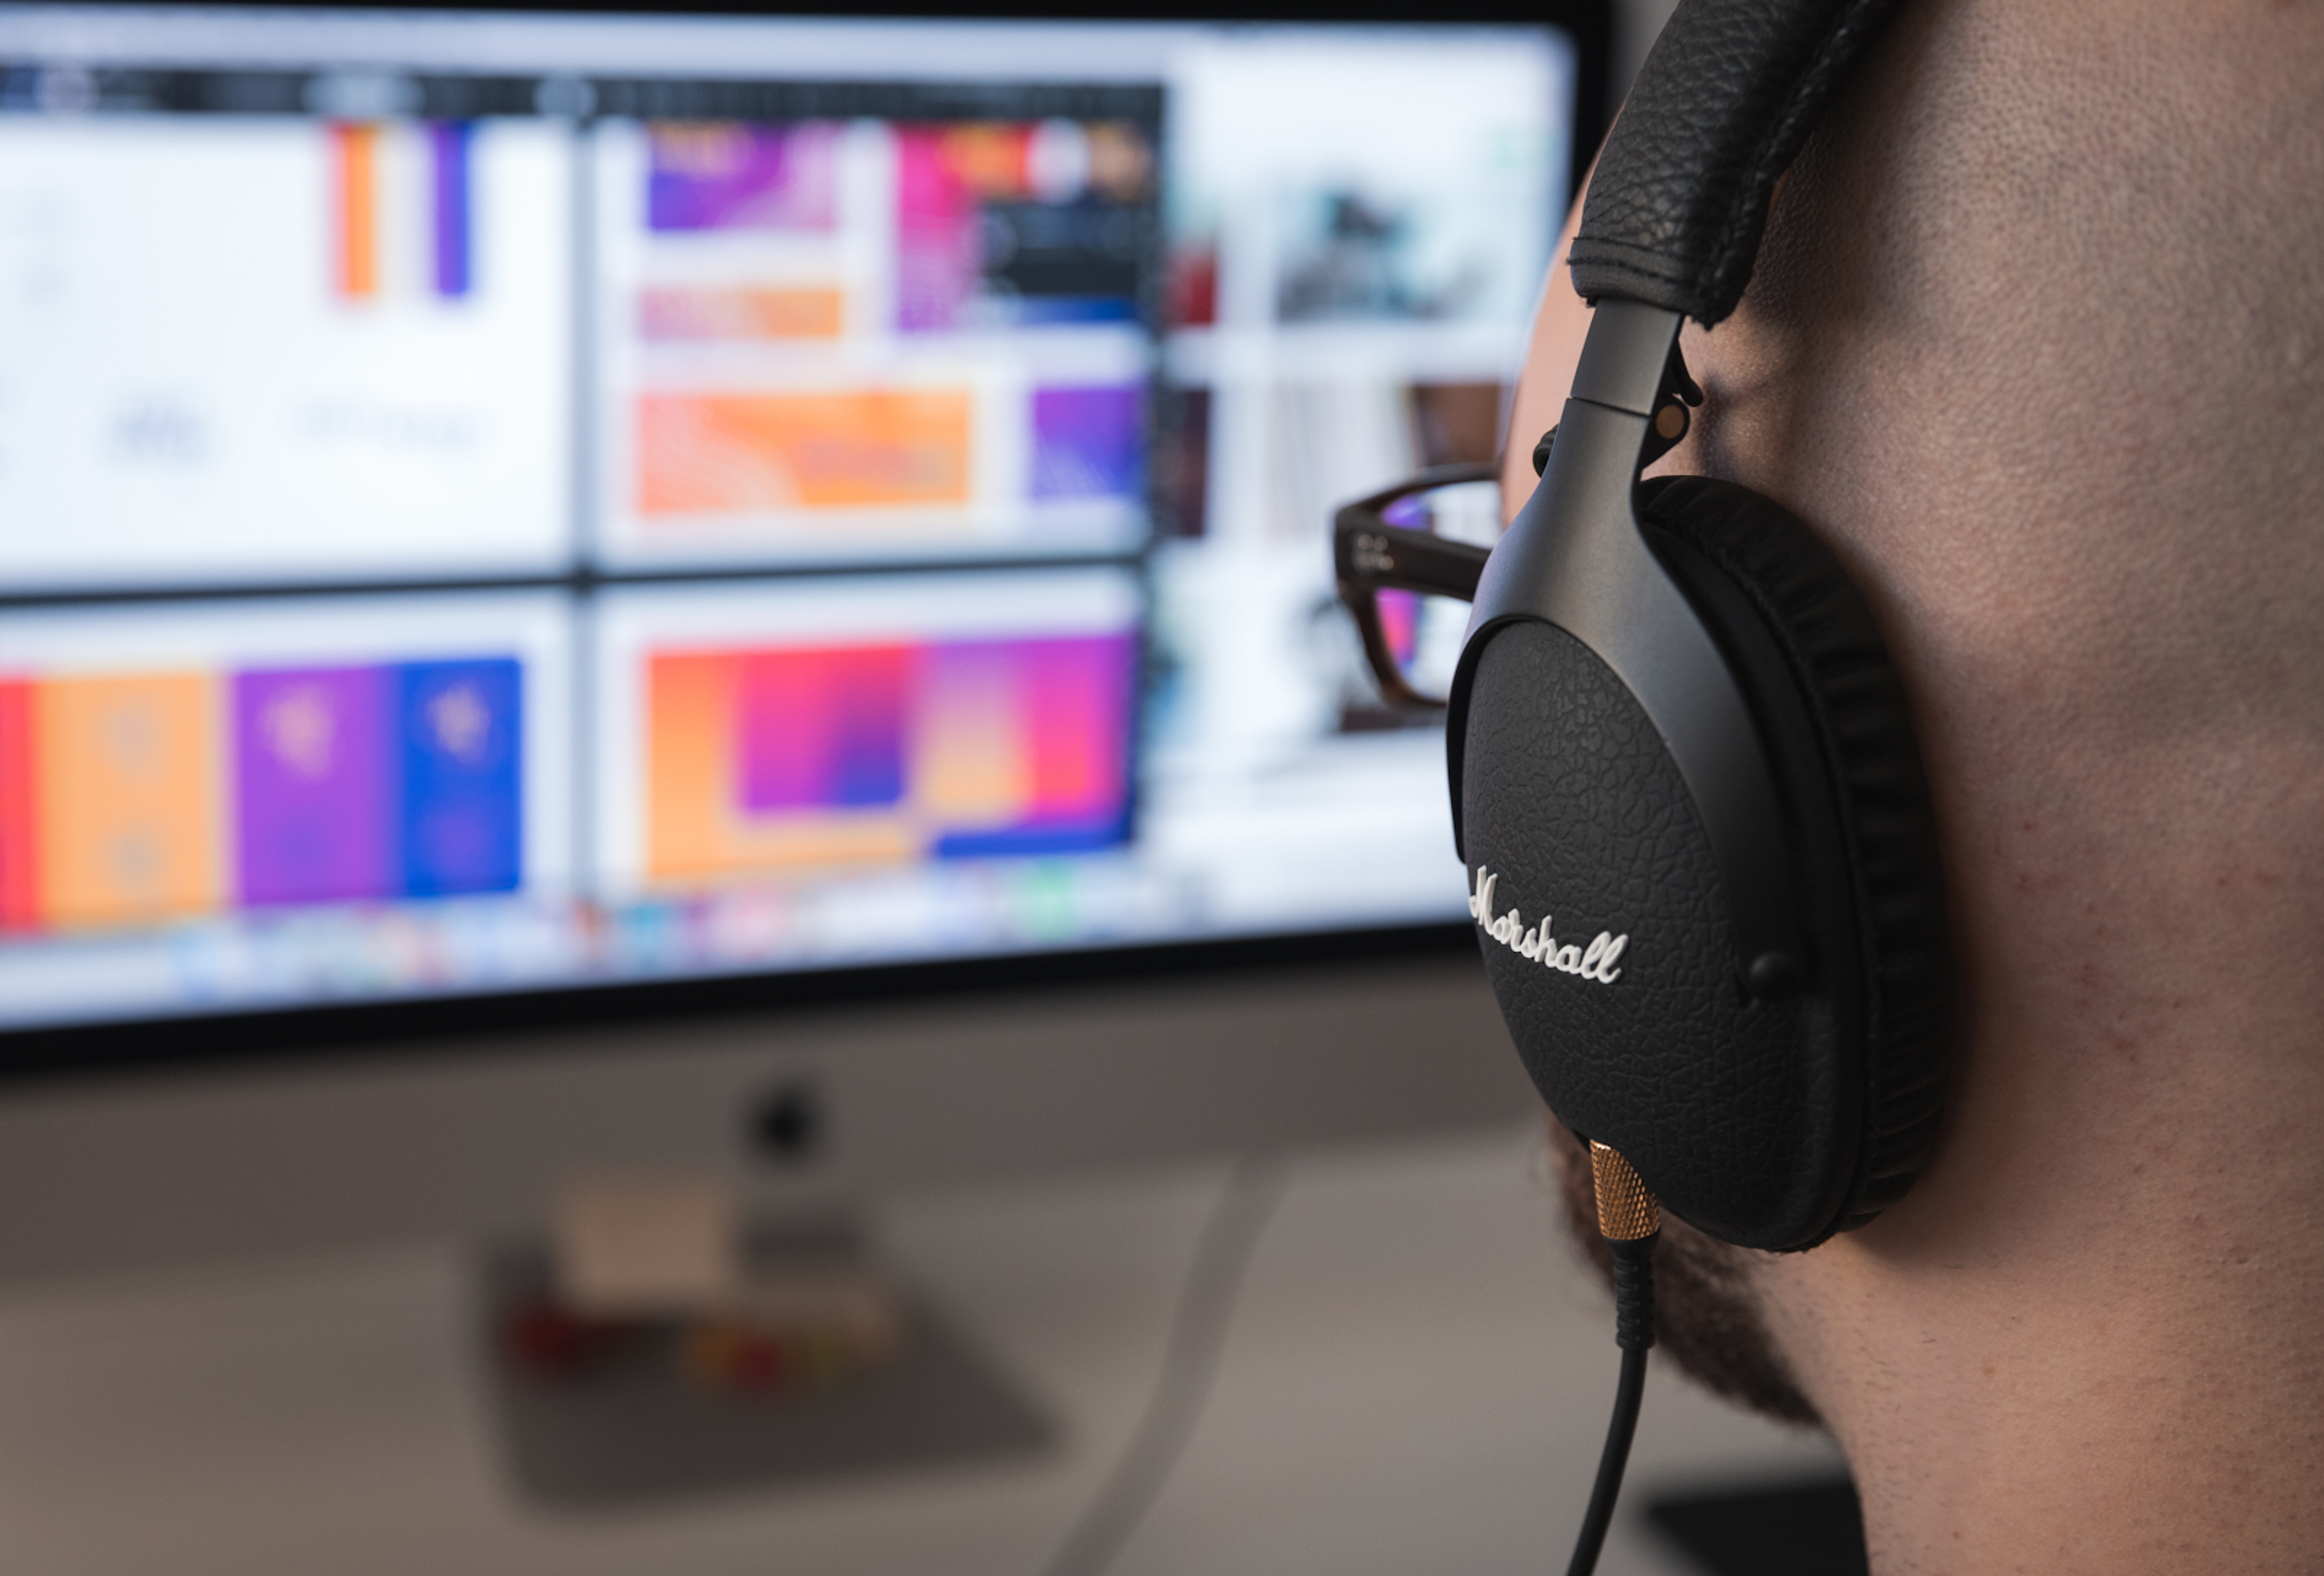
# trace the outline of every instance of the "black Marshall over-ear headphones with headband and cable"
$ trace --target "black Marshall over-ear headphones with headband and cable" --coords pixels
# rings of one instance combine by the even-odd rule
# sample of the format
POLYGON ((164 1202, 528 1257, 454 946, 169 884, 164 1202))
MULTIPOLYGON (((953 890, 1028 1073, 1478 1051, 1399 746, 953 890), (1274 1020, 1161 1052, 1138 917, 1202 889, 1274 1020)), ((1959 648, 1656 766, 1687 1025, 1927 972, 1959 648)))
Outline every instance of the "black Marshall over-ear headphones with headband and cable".
POLYGON ((1683 318, 1734 311, 1778 177, 1887 12, 1671 16, 1590 181, 1571 272, 1597 316, 1452 679, 1492 988, 1592 1141, 1618 1251, 1624 1378, 1578 1571, 1652 1344, 1655 1199, 1731 1244, 1813 1248, 1903 1197, 1943 1099, 1943 881, 1878 625, 1780 504, 1638 479, 1701 402, 1683 318))

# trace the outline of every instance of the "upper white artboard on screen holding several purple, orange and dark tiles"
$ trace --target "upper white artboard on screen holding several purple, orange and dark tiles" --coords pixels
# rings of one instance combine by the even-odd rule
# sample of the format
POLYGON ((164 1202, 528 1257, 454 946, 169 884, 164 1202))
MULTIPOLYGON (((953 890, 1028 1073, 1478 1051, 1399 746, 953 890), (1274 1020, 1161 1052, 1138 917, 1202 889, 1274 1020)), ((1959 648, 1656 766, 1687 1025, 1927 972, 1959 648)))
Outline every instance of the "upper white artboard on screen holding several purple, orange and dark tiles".
POLYGON ((1146 128, 609 123, 595 156, 611 558, 1143 537, 1146 128))

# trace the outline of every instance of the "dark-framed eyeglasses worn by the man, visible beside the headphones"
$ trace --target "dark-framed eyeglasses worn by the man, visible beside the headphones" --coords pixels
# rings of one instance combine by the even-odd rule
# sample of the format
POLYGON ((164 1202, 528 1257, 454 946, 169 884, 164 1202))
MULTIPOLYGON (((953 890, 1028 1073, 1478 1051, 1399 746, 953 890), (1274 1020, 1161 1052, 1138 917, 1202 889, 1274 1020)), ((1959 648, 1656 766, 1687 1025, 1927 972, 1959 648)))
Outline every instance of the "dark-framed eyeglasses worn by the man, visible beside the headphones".
POLYGON ((1439 465, 1332 516, 1339 600, 1355 614, 1380 697, 1443 707, 1469 602, 1501 532, 1494 465, 1439 465), (1466 537, 1466 539, 1464 539, 1466 537))

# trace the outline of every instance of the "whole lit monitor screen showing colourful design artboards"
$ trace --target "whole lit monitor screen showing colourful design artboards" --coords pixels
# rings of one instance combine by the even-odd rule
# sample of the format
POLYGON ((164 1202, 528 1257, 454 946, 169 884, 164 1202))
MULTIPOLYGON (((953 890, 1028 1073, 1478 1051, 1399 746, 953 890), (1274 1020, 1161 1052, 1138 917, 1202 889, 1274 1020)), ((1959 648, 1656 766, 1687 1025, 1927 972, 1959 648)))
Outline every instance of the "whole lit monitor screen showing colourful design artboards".
POLYGON ((0 7, 0 1027, 1462 916, 1557 28, 0 7))

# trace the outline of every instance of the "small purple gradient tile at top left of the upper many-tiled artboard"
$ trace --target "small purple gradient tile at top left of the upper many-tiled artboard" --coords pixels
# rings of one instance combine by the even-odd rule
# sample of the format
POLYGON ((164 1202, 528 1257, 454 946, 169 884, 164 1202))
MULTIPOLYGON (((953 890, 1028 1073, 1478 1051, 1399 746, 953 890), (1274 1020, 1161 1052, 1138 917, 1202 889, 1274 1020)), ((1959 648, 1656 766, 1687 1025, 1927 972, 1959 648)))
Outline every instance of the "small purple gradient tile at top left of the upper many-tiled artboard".
POLYGON ((837 221, 837 126, 665 123, 646 144, 651 230, 825 232, 837 221))

